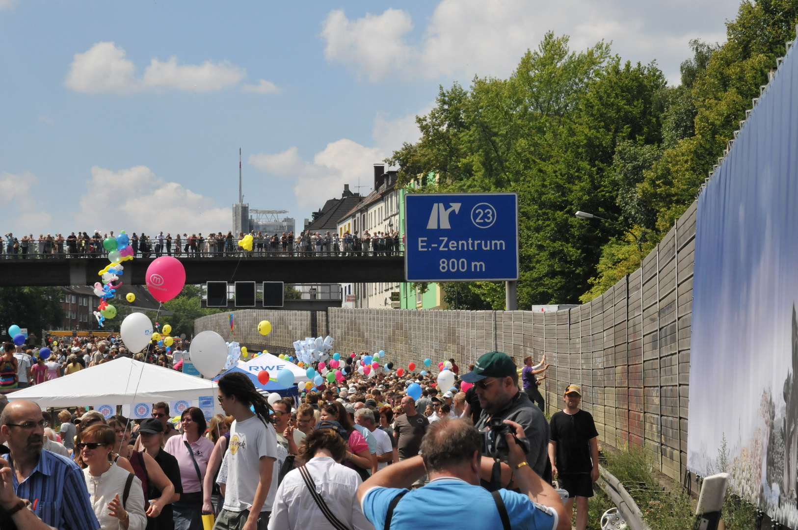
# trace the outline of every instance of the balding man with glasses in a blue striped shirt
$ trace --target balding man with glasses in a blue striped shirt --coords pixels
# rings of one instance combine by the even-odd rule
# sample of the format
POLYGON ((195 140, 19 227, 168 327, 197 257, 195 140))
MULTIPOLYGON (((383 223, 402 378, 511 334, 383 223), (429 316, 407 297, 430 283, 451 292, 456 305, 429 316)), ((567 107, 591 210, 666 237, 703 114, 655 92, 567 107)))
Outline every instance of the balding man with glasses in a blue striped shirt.
POLYGON ((45 421, 30 401, 12 401, 0 413, 0 440, 10 449, 14 490, 34 513, 60 530, 97 530, 83 472, 69 458, 42 449, 45 421))

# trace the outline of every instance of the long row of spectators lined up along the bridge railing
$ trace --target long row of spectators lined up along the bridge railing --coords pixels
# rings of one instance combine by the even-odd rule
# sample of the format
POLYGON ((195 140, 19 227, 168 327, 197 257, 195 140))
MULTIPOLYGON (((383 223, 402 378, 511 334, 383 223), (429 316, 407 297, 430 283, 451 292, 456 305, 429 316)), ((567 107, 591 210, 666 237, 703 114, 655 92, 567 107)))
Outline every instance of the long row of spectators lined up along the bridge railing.
MULTIPOLYGON (((223 256, 338 256, 338 255, 397 255, 401 253, 403 241, 397 231, 342 231, 320 232, 301 231, 294 236, 293 231, 282 232, 282 235, 251 232, 252 250, 244 250, 239 242, 245 234, 238 236, 232 231, 215 232, 208 235, 202 233, 159 232, 147 235, 144 232, 130 235, 130 246, 133 256, 140 258, 174 255, 176 257, 223 257, 223 256)), ((64 237, 61 233, 33 234, 15 236, 9 232, 5 236, 5 244, 0 245, 0 257, 6 259, 34 259, 53 257, 97 257, 108 252, 103 247, 103 240, 114 237, 113 231, 101 234, 95 231, 70 233, 64 237)))

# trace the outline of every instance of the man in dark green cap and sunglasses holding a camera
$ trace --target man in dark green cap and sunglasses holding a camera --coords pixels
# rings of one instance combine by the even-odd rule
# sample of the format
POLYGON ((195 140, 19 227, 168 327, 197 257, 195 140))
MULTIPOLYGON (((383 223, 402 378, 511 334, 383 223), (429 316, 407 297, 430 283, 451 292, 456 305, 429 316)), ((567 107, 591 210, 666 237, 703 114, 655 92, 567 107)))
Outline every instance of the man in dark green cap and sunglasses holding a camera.
MULTIPOLYGON (((529 444, 529 465, 540 477, 551 479, 547 473, 549 426, 546 417, 532 403, 527 393, 518 389, 518 370, 512 358, 500 351, 484 354, 474 364, 474 370, 464 374, 462 379, 474 384, 476 395, 480 398, 482 414, 476 421, 476 428, 480 431, 504 429, 503 420, 515 421, 521 425, 529 444)), ((498 473, 494 473, 499 469, 494 469, 496 466, 493 462, 486 458, 482 463, 482 477, 493 483, 492 488, 496 488, 497 482, 507 486, 512 479, 512 469, 507 464, 508 448, 502 437, 496 438, 495 449, 493 454, 501 461, 501 479, 496 476, 498 473)))

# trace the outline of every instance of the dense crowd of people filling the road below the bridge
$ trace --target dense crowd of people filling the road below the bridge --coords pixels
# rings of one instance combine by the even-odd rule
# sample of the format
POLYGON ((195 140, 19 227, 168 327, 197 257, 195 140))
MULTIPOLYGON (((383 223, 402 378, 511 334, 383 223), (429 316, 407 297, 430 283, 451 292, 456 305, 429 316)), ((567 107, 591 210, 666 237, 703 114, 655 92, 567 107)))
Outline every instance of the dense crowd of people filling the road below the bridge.
MULTIPOLYGON (((130 355, 118 341, 68 347, 69 364, 79 348, 88 369, 130 355)), ((574 500, 585 528, 599 468, 579 386, 549 422, 530 398, 543 362, 519 368, 490 352, 464 374, 450 362, 448 389, 432 374, 374 370, 298 399, 270 399, 231 372, 218 382, 224 414, 210 421, 196 407, 172 417, 165 402, 144 420, 50 417, 11 395, 0 402, 0 528, 199 530, 203 516, 215 530, 417 528, 455 512, 459 528, 564 530, 574 500)))

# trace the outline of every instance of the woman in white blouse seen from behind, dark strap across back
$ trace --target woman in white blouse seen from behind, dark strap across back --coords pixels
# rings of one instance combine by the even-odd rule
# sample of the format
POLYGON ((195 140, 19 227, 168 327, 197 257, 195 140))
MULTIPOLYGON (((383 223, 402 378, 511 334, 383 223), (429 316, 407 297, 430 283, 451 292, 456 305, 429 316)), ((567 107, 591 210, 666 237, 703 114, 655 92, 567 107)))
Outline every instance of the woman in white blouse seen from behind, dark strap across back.
MULTIPOLYGON (((298 461, 305 468, 314 489, 324 503, 347 528, 373 529, 363 516, 358 502, 361 479, 354 469, 341 465, 348 451, 346 441, 338 434, 336 421, 324 421, 299 445, 298 461), (330 428, 325 428, 327 425, 330 428), (319 427, 322 427, 321 429, 319 427)), ((269 530, 334 530, 319 508, 302 477, 300 469, 293 469, 282 479, 271 508, 269 530)))

